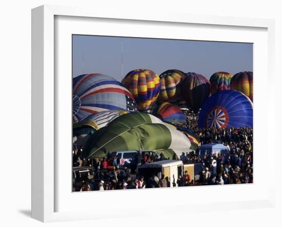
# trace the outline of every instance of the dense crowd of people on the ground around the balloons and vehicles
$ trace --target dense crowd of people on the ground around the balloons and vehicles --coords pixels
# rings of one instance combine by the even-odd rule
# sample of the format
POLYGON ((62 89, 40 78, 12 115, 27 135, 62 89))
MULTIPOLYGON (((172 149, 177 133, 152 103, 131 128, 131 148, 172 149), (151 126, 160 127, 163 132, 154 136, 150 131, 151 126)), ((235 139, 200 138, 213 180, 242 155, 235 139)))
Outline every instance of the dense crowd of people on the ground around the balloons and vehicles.
MULTIPOLYGON (((230 155, 213 154, 200 157, 198 150, 176 154, 172 159, 181 160, 184 164, 200 164, 201 171, 194 181, 186 172, 176 179, 178 186, 238 184, 253 182, 253 129, 252 128, 198 128, 197 114, 184 111, 186 124, 181 127, 191 129, 198 137, 200 144, 223 143, 230 149, 230 155)), ((136 173, 136 166, 159 160, 169 159, 163 153, 156 159, 151 153, 145 155, 137 152, 131 165, 123 163, 118 156, 110 154, 103 159, 92 157, 82 158, 83 147, 73 150, 73 167, 88 168, 88 172, 73 171, 73 191, 124 190, 132 188, 167 187, 169 182, 162 175, 152 175, 145 181, 144 176, 136 173), (101 176, 102 175, 102 176, 101 176), (98 179, 98 180, 97 180, 98 179)), ((173 186, 176 186, 174 183, 173 186)))

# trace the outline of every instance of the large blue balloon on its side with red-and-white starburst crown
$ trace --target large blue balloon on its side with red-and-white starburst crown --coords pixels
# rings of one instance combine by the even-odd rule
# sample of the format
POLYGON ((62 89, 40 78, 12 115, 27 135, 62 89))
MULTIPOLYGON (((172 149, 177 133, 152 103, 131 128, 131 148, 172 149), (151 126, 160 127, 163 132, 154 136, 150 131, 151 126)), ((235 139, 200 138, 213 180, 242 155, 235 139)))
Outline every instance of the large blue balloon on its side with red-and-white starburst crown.
POLYGON ((242 92, 218 91, 203 104, 198 119, 200 128, 253 126, 253 104, 242 92))

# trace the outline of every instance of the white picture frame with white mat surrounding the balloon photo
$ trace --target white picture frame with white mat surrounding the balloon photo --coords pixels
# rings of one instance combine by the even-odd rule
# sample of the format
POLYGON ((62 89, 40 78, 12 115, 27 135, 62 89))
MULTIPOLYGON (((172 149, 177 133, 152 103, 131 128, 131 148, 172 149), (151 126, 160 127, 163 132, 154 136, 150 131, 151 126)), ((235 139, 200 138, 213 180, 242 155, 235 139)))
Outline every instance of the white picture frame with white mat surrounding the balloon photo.
MULTIPOLYGON (((241 197, 242 200, 235 199, 234 201, 224 201, 219 200, 216 202, 215 200, 193 200, 191 199, 183 199, 181 201, 172 201, 169 202, 159 202, 155 204, 150 204, 150 209, 146 209, 146 206, 134 206, 134 209, 126 212, 126 214, 116 213, 116 212, 105 212, 106 207, 100 207, 100 209, 93 210, 83 210, 68 202, 75 202, 77 199, 83 198, 83 200, 89 200, 90 198, 104 198, 108 200, 113 200, 114 198, 125 196, 124 192, 91 192, 91 193, 71 193, 71 191, 63 190, 61 188, 63 185, 63 181, 58 180, 59 174, 63 174, 62 167, 62 156, 65 153, 62 152, 58 154, 58 147, 64 147, 64 144, 67 144, 68 139, 71 140, 71 119, 68 118, 65 121, 64 117, 66 115, 63 114, 64 108, 59 105, 59 102, 64 100, 65 104, 70 104, 70 96, 71 86, 66 86, 66 88, 62 90, 62 80, 65 79, 65 75, 67 76, 71 69, 68 68, 66 73, 61 73, 62 67, 68 67, 71 62, 71 56, 68 55, 71 51, 71 46, 69 45, 69 40, 64 42, 64 45, 61 45, 62 42, 60 39, 64 39, 64 35, 69 35, 72 33, 72 29, 77 28, 76 31, 81 31, 83 34, 92 34, 93 31, 86 32, 88 29, 84 24, 95 23, 95 20, 99 20, 103 25, 112 26, 111 32, 107 33, 107 35, 123 35, 122 33, 118 33, 113 27, 113 24, 122 24, 125 23, 124 26, 128 24, 138 23, 140 26, 150 26, 156 28, 165 26, 170 26, 172 29, 182 29, 182 26, 190 26, 189 29, 198 29, 201 26, 203 29, 210 29, 210 36, 203 40, 212 40, 212 41, 229 41, 226 39, 218 39, 216 32, 219 31, 224 32, 225 30, 228 32, 232 32, 232 29, 237 29, 238 32, 245 32, 249 34, 249 30, 255 30, 257 32, 261 32, 261 40, 257 38, 257 42, 254 42, 254 45, 258 44, 257 48, 254 48, 254 68, 261 68, 261 71, 267 74, 267 88, 268 95, 263 97, 260 95, 258 91, 264 85, 264 82, 259 79, 257 76, 257 81, 260 81, 254 84, 254 121, 259 121, 259 103, 267 102, 268 108, 267 113, 264 114, 265 118, 267 118, 268 124, 261 127, 261 130, 264 130, 264 134, 266 135, 266 140, 271 141, 270 131, 274 131, 274 118, 271 116, 275 112, 275 99, 270 99, 271 94, 274 94, 274 89, 271 89, 274 81, 274 73, 273 73, 273 64, 274 64, 274 21, 266 20, 266 19, 253 19, 253 18, 237 18, 237 17, 220 17, 220 16, 198 16, 191 14, 177 14, 177 13, 147 13, 135 14, 134 12, 123 12, 123 11, 107 11, 106 9, 99 9, 93 11, 92 9, 87 8, 77 8, 77 7, 63 7, 63 6, 40 6, 32 9, 32 218, 43 221, 64 221, 64 220, 79 220, 79 219, 100 219, 107 218, 109 215, 111 217, 126 217, 126 216, 141 216, 150 214, 152 210, 154 210, 155 214, 170 214, 170 213, 183 213, 183 212, 197 212, 201 211, 203 204, 212 204, 213 209, 216 211, 221 210, 238 210, 238 209, 251 209, 254 207, 273 207, 275 204, 275 193, 274 186, 269 184, 265 187, 262 187, 259 182, 261 176, 265 176, 263 170, 259 165, 259 155, 255 157, 255 181, 253 185, 236 185, 235 186, 225 186, 224 190, 249 190, 250 192, 254 191, 252 197, 241 197), (56 22, 56 18, 63 18, 62 21, 56 22), (65 18, 67 20, 65 20, 65 18), (105 21, 103 21, 105 20, 105 21), (110 20, 108 22, 107 20, 110 20), (71 22, 70 22, 71 21, 71 22), (79 26, 69 26, 69 23, 75 24, 76 21, 79 21, 79 26), (217 26, 217 27, 212 27, 217 26), (80 30, 81 29, 81 30, 80 30), (214 29, 214 30, 212 30, 214 29), (228 30, 231 29, 231 30, 228 30), (241 30, 241 31, 239 31, 241 30), (60 35, 57 35, 57 34, 60 35), (58 46, 57 44, 61 44, 58 46), (266 44, 266 46, 264 46, 266 44), (63 63, 60 59, 62 58, 62 51, 58 51, 58 48, 66 48, 66 61, 63 63), (64 46, 64 47, 63 47, 64 46), (266 56, 260 56, 259 53, 266 53, 266 56), (60 62, 61 61, 61 62, 60 62), (60 62, 60 65, 56 65, 60 62), (66 64, 64 66, 61 66, 66 64), (265 65, 261 65, 264 63, 265 65), (60 68, 61 67, 61 68, 60 68), (60 75, 57 77, 57 75, 60 75), (61 76, 62 75, 62 76, 61 76), (61 100, 61 101, 60 101, 61 100), (256 109, 258 110, 256 112, 256 109), (257 119, 257 120, 256 120, 257 119), (61 126, 58 126, 60 125, 61 126), (65 126, 64 126, 65 124, 65 126), (60 131, 62 131, 62 125, 66 127, 66 138, 59 137, 60 131), (59 139, 58 139, 59 138, 59 139), (63 142, 62 142, 63 141, 63 142), (65 143, 66 142, 66 143, 65 143), (256 162, 257 161, 257 162, 256 162), (58 164, 59 163, 59 164, 58 164), (256 175, 256 173, 259 173, 256 175), (256 177, 257 176, 257 177, 256 177), (257 183, 256 183, 257 182, 257 183), (58 185, 60 187, 58 188, 58 185), (243 188, 244 187, 244 188, 243 188), (61 191, 60 191, 61 190, 61 191), (263 193, 265 192, 265 193, 263 193), (97 194, 100 193, 100 194, 97 194), (71 197, 67 197, 69 195, 71 197), (65 198, 62 200, 61 198, 65 198), (58 207, 58 201, 60 200, 58 207), (62 201, 61 201, 62 200, 62 201), (64 204, 65 203, 65 204, 64 204), (187 207, 187 204, 193 204, 193 207, 187 207), (223 205, 225 208, 223 208, 223 205), (63 208, 61 208, 63 207, 63 208), (65 209, 64 207, 69 207, 69 209, 65 209), (171 209, 173 207, 173 209, 171 209)), ((99 25, 102 27, 102 25, 99 25)), ((102 29, 102 28, 101 28, 102 29)), ((149 29, 150 30, 150 29, 149 29)), ((161 34, 161 30, 159 30, 161 34)), ((133 34, 133 31, 127 32, 130 35, 130 32, 133 34)), ((105 32, 100 33, 101 35, 105 35, 105 32)), ((199 33, 204 34, 203 31, 199 31, 199 33), (202 33, 201 33, 202 32, 202 33)), ((77 33, 76 33, 77 34, 77 33)), ((98 33, 97 33, 98 34, 98 33)), ((125 36, 127 36, 124 33, 125 36)), ((153 34, 151 37, 160 37, 159 35, 153 34)), ((133 36, 140 36, 138 33, 134 33, 133 36)), ((255 35, 254 35, 255 36, 255 35)), ((142 36, 140 36, 142 37, 142 36)), ((146 36, 148 37, 148 35, 146 36)), ((162 36, 163 37, 163 36, 162 36)), ((175 38, 173 36, 167 38, 175 38)), ((201 36, 204 37, 204 36, 201 36)), ((254 38, 244 37, 244 39, 237 37, 234 35, 233 42, 252 42, 254 38)), ((251 35, 250 35, 251 37, 251 35)), ((69 39, 69 36, 68 38, 69 39)), ((188 37, 187 37, 188 39, 188 37)), ((200 36, 189 36, 189 39, 200 39, 200 36)), ((255 77, 259 75, 259 71, 254 69, 255 77), (256 74, 257 73, 257 74, 256 74)), ((68 79, 67 84, 70 85, 72 80, 71 74, 69 74, 70 79, 68 79)), ((254 79, 256 80, 256 79, 254 79)), ((273 95, 274 97, 274 95, 273 95)), ((62 104, 63 105, 63 104, 62 104)), ((70 112, 71 115, 71 112, 70 112)), ((255 125, 255 124, 254 124, 255 125)), ((254 130, 256 127, 254 126, 254 130)), ((258 131, 258 130, 257 130, 258 131)), ((255 138, 257 138, 257 143, 259 142, 261 135, 259 131, 254 132, 255 138), (256 136, 257 135, 257 136, 256 136)), ((256 140, 256 139, 255 139, 256 140)), ((255 146, 254 149, 259 149, 258 146, 255 146)), ((70 145, 70 144, 69 144, 70 145)), ((64 149, 68 150, 68 149, 64 149)), ((271 155, 274 153, 274 143, 269 143, 268 152, 266 153, 268 159, 270 159, 271 155)), ((71 150, 70 153, 71 154, 71 150)), ((67 165, 66 165, 67 166, 67 165)), ((68 168, 68 167, 67 167, 68 168)), ((70 179, 71 171, 68 169, 69 175, 66 177, 70 179)), ((274 167, 269 167, 268 173, 274 173, 274 167)), ((274 178, 274 174, 269 174, 269 178, 274 178)), ((271 179, 269 179, 271 181, 271 179)), ((174 188, 170 189, 160 189, 156 190, 158 193, 165 192, 168 198, 172 198, 172 195, 175 194, 174 188)), ((203 187, 189 187, 189 188, 177 188, 177 194, 185 195, 185 193, 196 193, 200 190, 200 193, 216 192, 216 187, 203 186, 203 187), (187 191, 189 190, 189 191, 187 191)), ((222 190, 222 187, 220 187, 222 190)), ((126 196, 128 198, 134 198, 137 194, 143 196, 148 195, 148 190, 144 191, 128 191, 126 196)), ((233 191, 234 192, 234 191, 233 191)), ((150 191, 150 193, 154 193, 150 191)), ((118 204, 120 208, 126 207, 124 204, 118 204)))

